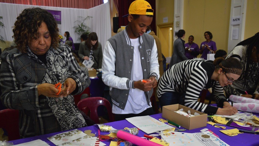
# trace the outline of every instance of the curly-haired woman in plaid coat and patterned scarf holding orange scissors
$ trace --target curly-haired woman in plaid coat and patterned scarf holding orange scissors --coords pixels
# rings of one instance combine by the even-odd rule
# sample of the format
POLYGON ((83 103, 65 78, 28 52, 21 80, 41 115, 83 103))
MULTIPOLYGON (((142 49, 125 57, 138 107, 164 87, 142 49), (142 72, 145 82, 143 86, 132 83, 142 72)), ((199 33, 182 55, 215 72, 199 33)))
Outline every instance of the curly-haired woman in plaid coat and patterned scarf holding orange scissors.
POLYGON ((1 102, 19 110, 21 138, 87 126, 73 95, 90 79, 68 47, 58 44, 57 23, 41 8, 24 9, 14 23, 16 48, 1 55, 1 102), (54 84, 61 82, 61 92, 54 84))

